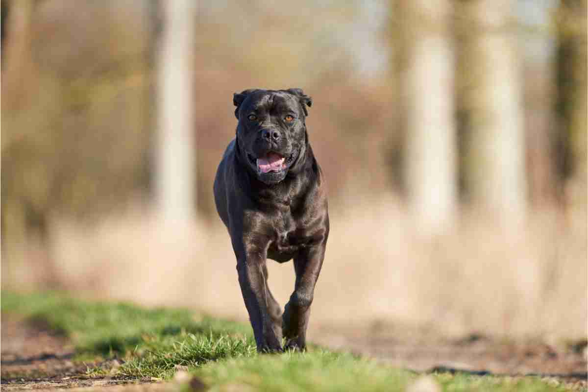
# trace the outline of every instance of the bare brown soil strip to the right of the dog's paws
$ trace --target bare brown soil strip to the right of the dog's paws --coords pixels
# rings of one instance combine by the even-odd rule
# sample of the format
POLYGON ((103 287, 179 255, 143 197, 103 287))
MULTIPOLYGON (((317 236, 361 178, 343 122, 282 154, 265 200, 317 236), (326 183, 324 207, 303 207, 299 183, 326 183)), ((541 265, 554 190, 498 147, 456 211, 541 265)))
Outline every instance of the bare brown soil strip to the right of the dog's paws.
POLYGON ((313 342, 373 357, 419 372, 505 376, 539 376, 585 389, 586 340, 575 344, 513 341, 472 334, 461 339, 439 337, 434 331, 374 325, 369 328, 319 327, 313 342))

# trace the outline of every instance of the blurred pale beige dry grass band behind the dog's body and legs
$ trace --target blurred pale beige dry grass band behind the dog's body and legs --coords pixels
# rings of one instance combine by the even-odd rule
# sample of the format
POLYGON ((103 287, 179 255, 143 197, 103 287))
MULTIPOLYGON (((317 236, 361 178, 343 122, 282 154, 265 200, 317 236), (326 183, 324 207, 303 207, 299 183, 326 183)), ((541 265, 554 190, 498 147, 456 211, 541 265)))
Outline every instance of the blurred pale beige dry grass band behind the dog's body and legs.
MULTIPOLYGON (((345 205, 339 200, 331 210, 311 328, 378 322, 432 326, 448 335, 586 336, 585 209, 567 223, 537 213, 516 232, 471 215, 455 232, 423 240, 391 197, 345 205)), ((69 290, 246 319, 219 221, 165 229, 149 209, 136 208, 94 226, 55 219, 51 234, 56 276, 69 290)), ((3 263, 3 286, 33 284, 33 259, 3 263)), ((283 304, 293 289, 292 265, 269 262, 269 269, 283 304)))

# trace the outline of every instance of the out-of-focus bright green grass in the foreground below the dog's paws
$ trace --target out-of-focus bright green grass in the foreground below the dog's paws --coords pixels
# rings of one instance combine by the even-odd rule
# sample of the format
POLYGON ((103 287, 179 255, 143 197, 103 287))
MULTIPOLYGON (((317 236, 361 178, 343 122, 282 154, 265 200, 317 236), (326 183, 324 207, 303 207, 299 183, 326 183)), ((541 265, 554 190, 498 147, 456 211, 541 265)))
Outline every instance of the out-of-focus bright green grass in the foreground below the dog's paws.
MULTIPOLYGON (((202 366, 196 376, 212 391, 404 391, 420 377, 348 353, 316 351, 306 354, 229 359, 202 366)), ((537 378, 435 374, 443 391, 563 391, 537 378)))

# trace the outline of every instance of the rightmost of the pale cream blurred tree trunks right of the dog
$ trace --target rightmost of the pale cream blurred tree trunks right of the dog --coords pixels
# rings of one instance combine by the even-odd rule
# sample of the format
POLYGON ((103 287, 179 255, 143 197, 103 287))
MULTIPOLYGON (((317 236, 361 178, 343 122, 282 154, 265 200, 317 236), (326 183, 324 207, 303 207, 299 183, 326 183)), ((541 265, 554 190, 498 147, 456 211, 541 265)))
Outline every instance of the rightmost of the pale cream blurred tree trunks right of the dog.
POLYGON ((473 205, 516 227, 527 209, 522 84, 512 0, 459 2, 467 78, 465 180, 473 205))

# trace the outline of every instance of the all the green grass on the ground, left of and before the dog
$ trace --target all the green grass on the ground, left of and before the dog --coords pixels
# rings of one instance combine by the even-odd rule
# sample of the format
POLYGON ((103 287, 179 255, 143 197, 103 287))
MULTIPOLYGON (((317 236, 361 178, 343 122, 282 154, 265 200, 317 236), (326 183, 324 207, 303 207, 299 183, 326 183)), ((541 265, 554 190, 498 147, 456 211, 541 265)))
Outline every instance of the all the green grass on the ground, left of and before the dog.
MULTIPOLYGON (((211 390, 395 391, 419 375, 349 353, 258 354, 249 326, 181 309, 144 309, 128 303, 75 300, 56 293, 2 292, 3 313, 47 323, 71 337, 82 357, 117 357, 123 377, 169 379, 175 366, 211 390)), ((92 370, 100 374, 101 368, 92 370)), ((436 374, 444 391, 563 391, 543 381, 436 374)))

